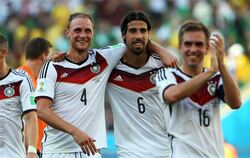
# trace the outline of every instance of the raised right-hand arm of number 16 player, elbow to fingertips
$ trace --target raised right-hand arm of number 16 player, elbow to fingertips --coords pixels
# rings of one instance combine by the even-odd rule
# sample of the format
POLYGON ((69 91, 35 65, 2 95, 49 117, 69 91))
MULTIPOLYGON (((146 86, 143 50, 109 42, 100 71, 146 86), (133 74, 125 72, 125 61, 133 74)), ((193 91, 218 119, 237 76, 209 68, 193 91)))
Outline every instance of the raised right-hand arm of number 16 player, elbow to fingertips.
POLYGON ((214 33, 211 40, 213 40, 218 57, 219 71, 222 77, 225 94, 224 100, 232 109, 237 109, 241 106, 240 90, 236 81, 230 76, 226 65, 224 64, 224 39, 220 34, 214 33))

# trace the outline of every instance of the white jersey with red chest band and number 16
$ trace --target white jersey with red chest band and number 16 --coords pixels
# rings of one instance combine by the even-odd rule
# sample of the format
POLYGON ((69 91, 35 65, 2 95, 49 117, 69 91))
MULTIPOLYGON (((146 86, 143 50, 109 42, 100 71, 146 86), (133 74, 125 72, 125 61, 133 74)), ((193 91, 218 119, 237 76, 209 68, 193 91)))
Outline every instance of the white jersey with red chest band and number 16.
MULTIPOLYGON (((167 87, 190 79, 180 69, 160 69, 156 82, 161 100, 167 87)), ((173 158, 224 158, 219 111, 223 97, 222 79, 217 73, 190 97, 172 105, 166 103, 173 158)))

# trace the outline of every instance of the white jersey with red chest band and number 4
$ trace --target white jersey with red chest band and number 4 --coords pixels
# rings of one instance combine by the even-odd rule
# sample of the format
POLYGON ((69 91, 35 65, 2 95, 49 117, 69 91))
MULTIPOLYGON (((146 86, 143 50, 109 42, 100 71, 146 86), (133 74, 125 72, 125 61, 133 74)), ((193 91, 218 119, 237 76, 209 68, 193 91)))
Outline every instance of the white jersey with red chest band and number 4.
MULTIPOLYGON (((82 63, 48 61, 39 74, 36 100, 53 101, 51 109, 63 120, 73 124, 95 139, 98 149, 106 147, 104 117, 105 87, 112 69, 120 60, 125 47, 88 52, 82 63)), ((43 153, 82 151, 73 137, 48 126, 43 138, 43 153)))

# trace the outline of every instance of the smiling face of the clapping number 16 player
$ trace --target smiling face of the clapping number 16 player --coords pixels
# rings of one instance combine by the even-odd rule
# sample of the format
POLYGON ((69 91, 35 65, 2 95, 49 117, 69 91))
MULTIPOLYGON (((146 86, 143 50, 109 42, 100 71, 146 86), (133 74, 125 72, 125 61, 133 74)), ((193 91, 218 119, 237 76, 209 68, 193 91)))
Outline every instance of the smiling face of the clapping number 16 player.
POLYGON ((182 36, 182 43, 179 45, 179 51, 183 57, 183 65, 187 67, 203 66, 203 59, 208 51, 204 32, 185 32, 182 36))

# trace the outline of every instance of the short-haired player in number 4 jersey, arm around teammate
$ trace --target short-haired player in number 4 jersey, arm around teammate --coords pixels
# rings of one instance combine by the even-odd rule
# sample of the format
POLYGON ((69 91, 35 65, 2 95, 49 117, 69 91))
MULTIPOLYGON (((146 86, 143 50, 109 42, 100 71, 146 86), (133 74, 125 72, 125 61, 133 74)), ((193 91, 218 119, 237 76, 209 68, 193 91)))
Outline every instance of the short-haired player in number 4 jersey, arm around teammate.
MULTIPOLYGON (((43 158, 99 158, 99 149, 106 147, 105 87, 126 47, 118 44, 89 51, 93 34, 88 14, 72 14, 66 29, 70 40, 66 60, 45 62, 40 71, 38 116, 49 125, 43 158)), ((169 62, 171 65, 175 60, 169 62)))

